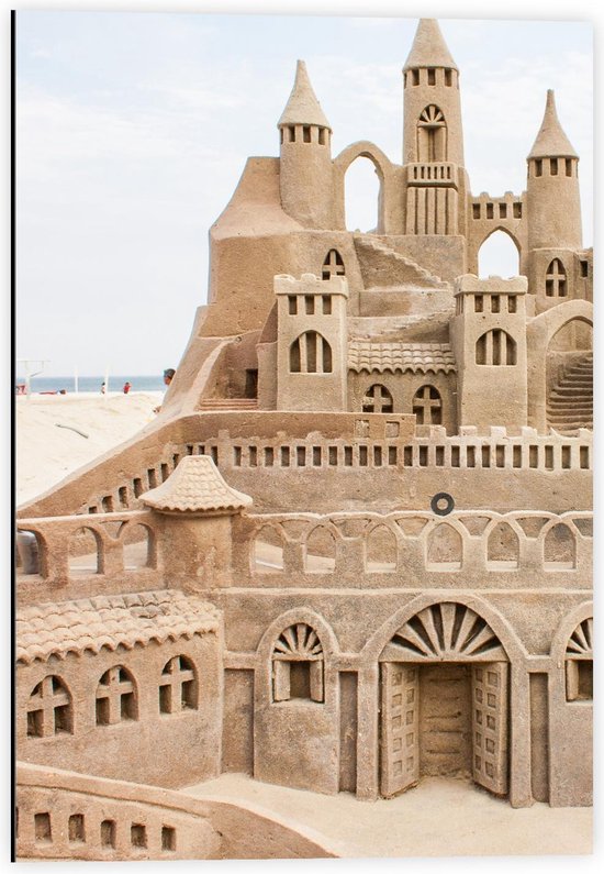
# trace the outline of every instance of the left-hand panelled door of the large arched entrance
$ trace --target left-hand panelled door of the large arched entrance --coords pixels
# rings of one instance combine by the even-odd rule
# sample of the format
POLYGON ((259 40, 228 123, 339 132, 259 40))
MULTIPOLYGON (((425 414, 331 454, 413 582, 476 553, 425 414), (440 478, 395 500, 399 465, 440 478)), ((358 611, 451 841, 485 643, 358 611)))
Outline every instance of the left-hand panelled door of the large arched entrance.
POLYGON ((420 779, 420 668, 381 665, 381 795, 390 798, 420 779))

